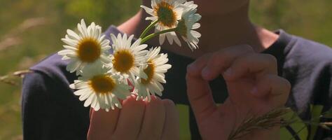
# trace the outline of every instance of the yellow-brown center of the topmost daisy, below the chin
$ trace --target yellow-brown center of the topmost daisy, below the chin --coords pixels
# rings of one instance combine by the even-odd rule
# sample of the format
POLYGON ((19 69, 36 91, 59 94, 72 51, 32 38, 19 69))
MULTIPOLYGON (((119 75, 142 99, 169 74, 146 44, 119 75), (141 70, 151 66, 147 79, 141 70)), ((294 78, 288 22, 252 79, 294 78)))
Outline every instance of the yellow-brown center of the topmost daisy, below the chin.
POLYGON ((161 25, 165 27, 174 27, 177 22, 177 13, 174 12, 174 7, 165 1, 161 1, 154 7, 155 15, 161 25))

